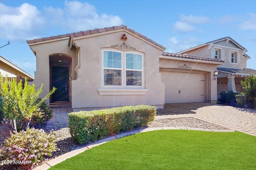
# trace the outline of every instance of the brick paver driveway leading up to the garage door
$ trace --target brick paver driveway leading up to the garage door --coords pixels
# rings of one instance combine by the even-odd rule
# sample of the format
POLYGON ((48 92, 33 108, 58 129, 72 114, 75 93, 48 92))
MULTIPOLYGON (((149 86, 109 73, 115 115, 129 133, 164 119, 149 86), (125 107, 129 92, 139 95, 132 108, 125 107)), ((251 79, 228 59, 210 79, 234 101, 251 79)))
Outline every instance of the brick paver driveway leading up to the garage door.
POLYGON ((194 117, 235 131, 256 136, 256 110, 211 103, 166 104, 172 113, 155 119, 194 117))

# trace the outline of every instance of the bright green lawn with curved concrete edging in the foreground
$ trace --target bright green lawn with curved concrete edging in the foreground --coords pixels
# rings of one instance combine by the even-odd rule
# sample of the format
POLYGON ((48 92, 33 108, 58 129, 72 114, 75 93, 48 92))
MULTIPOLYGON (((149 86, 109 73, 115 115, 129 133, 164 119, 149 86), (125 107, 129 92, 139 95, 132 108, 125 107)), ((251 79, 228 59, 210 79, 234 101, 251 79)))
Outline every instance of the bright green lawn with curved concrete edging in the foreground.
POLYGON ((240 132, 160 130, 110 141, 50 170, 255 170, 256 137, 240 132))

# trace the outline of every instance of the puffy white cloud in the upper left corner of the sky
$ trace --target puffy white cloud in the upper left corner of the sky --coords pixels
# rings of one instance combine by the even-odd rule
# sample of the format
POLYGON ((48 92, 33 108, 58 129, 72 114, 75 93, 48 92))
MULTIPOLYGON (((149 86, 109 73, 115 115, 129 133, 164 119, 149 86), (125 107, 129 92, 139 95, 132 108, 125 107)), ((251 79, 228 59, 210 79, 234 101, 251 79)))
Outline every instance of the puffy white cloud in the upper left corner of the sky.
POLYGON ((8 40, 33 38, 44 25, 44 18, 35 6, 24 3, 17 8, 0 3, 0 37, 8 40), (4 9, 4 10, 2 10, 4 9))

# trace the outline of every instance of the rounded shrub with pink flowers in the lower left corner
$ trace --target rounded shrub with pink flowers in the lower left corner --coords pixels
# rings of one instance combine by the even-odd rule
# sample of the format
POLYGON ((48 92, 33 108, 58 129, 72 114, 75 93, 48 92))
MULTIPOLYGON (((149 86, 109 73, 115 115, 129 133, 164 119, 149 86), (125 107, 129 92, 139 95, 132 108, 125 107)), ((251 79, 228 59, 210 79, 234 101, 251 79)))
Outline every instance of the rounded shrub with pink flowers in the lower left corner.
POLYGON ((23 161, 22 169, 33 168, 45 159, 45 156, 52 156, 57 149, 54 135, 47 134, 43 129, 30 129, 20 131, 12 135, 0 148, 2 158, 8 161, 23 161))

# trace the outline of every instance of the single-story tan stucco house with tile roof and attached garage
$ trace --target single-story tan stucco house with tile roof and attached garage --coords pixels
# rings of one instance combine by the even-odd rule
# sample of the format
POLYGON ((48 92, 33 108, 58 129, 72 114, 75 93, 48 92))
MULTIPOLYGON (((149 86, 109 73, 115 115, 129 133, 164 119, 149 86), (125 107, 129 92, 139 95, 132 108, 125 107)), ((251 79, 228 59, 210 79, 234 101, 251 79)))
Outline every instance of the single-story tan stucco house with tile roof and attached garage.
POLYGON ((129 105, 216 102, 220 59, 163 53, 126 25, 28 40, 36 56, 35 84, 50 102, 73 111, 129 105))

